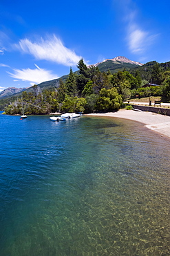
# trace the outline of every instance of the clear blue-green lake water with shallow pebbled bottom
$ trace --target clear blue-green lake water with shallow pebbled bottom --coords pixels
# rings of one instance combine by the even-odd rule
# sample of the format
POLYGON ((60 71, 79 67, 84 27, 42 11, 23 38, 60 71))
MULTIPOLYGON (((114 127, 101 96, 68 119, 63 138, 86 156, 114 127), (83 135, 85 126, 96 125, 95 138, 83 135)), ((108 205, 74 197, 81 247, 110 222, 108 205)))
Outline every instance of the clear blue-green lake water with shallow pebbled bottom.
POLYGON ((137 122, 0 114, 0 255, 170 255, 169 140, 137 122))

